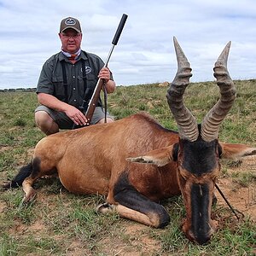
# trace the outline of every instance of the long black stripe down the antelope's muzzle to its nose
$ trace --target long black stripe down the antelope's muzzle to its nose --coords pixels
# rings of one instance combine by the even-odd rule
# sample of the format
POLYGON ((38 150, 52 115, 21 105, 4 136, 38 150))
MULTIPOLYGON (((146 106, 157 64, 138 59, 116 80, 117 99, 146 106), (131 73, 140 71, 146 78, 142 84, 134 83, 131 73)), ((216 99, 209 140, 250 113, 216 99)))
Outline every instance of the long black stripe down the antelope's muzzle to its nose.
POLYGON ((210 225, 208 216, 209 187, 207 184, 191 186, 191 230, 200 244, 207 242, 210 225))

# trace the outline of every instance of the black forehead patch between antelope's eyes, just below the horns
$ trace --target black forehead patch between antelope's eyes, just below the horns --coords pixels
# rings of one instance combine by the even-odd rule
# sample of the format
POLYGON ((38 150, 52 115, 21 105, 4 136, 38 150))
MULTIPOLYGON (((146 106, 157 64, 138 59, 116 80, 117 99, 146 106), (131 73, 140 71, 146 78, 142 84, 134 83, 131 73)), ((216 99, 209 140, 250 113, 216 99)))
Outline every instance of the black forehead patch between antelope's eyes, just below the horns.
POLYGON ((215 166, 217 166, 217 146, 217 140, 210 143, 204 142, 201 139, 195 142, 181 140, 180 147, 183 150, 183 168, 197 176, 212 172, 215 166))

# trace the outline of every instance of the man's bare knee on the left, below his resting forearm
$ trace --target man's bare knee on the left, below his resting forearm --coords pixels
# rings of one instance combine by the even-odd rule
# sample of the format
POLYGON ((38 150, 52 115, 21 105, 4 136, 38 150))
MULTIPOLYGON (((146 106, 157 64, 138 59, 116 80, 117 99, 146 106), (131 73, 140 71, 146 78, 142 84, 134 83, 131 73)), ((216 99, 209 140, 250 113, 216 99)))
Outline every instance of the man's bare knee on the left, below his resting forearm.
POLYGON ((45 111, 37 111, 35 113, 35 121, 38 128, 46 135, 53 134, 59 131, 58 125, 45 111))

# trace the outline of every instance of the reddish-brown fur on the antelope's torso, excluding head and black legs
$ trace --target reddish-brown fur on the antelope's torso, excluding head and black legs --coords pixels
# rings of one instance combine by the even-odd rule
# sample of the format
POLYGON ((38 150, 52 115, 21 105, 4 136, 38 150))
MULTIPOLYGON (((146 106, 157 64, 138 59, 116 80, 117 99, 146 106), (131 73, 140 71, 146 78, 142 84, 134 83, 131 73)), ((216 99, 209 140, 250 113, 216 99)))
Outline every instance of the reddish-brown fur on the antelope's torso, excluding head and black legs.
POLYGON ((35 148, 34 158, 41 160, 38 177, 56 170, 61 183, 70 192, 108 195, 108 202, 114 203, 113 185, 119 173, 128 168, 131 183, 138 191, 159 200, 178 194, 176 172, 166 171, 175 169, 175 164, 157 168, 127 163, 125 159, 176 143, 177 138, 177 133, 165 131, 154 119, 141 113, 112 124, 93 125, 44 137, 35 148), (166 178, 166 175, 170 177, 166 178), (155 184, 154 193, 152 183, 155 184), (170 183, 172 186, 168 186, 170 183), (172 189, 161 192, 163 187, 172 189))

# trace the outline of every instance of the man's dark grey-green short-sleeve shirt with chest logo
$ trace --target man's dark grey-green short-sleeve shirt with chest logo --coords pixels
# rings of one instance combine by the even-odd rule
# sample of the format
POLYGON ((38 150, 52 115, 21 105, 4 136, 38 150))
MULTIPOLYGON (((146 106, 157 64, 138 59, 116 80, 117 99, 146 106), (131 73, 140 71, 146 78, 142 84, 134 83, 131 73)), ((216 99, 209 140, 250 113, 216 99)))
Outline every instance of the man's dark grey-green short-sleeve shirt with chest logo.
MULTIPOLYGON (((91 91, 94 90, 98 81, 98 74, 103 66, 104 62, 99 56, 85 53, 83 50, 74 64, 68 60, 67 56, 59 52, 45 61, 38 79, 37 93, 50 94, 62 102, 67 102, 79 108, 83 103, 86 88, 91 89, 91 91), (64 62, 67 74, 66 85, 64 84, 61 61, 64 62), (84 61, 85 66, 85 77, 82 61, 84 61), (65 89, 65 86, 67 86, 67 89, 65 89)), ((112 74, 111 79, 113 80, 112 74)))

